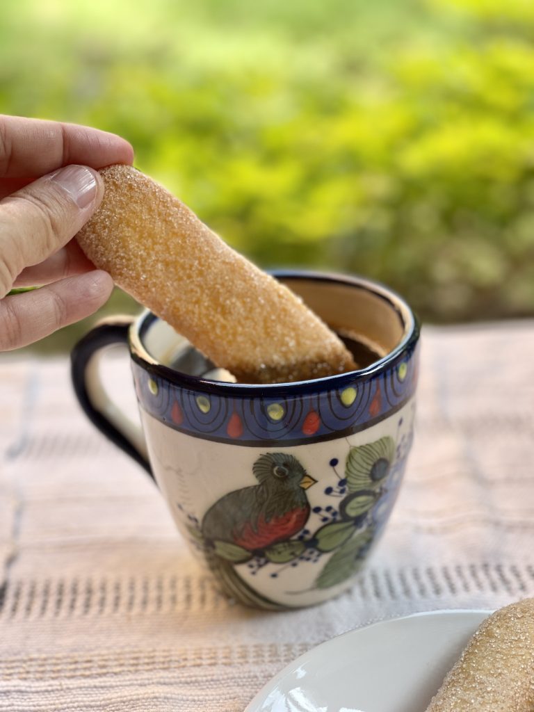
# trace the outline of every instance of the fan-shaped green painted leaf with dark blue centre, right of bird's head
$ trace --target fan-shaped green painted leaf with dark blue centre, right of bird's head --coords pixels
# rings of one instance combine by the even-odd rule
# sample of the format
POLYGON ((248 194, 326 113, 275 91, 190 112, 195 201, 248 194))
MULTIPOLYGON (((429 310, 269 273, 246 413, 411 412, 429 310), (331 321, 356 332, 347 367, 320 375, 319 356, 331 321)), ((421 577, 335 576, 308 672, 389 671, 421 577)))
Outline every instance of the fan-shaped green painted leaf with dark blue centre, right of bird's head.
POLYGON ((380 486, 395 456, 395 441, 389 435, 374 443, 351 447, 345 463, 347 489, 355 492, 380 486))

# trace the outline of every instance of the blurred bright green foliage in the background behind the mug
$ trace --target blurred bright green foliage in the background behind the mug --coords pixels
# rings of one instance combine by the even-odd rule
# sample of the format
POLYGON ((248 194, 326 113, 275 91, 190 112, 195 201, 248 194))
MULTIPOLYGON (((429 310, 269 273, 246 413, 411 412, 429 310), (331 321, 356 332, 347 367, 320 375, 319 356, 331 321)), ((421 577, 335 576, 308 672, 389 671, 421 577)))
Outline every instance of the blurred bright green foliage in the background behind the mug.
POLYGON ((261 266, 532 315, 533 40, 531 0, 19 0, 0 105, 127 137, 261 266))

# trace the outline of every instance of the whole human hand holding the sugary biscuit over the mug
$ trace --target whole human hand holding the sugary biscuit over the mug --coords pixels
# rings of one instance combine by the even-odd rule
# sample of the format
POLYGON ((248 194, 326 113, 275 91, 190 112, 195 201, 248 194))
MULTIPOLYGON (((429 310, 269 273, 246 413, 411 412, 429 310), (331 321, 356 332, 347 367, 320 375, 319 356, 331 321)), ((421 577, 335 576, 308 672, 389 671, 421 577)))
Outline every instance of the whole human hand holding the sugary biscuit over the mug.
POLYGON ((93 314, 113 283, 73 240, 102 201, 95 171, 131 164, 122 138, 96 129, 0 115, 0 351, 93 314), (13 287, 46 285, 8 295, 13 287))

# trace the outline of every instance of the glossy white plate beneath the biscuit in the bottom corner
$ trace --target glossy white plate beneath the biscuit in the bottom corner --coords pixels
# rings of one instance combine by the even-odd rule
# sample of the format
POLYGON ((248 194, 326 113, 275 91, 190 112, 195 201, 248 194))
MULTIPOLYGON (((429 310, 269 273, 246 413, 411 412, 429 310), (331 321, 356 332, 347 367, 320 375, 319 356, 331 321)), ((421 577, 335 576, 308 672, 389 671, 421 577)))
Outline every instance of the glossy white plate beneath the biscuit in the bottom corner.
POLYGON ((424 712, 489 614, 418 613, 340 635, 283 669, 246 712, 424 712))

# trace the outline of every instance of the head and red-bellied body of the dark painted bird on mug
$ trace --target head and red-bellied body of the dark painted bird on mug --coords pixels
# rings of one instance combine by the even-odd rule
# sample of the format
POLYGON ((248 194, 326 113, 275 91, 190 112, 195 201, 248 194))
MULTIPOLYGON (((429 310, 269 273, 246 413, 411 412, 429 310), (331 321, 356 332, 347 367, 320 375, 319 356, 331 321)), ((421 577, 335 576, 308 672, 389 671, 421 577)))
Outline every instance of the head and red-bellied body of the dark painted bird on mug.
POLYGON ((317 480, 295 456, 283 452, 261 455, 252 471, 257 485, 229 492, 206 512, 201 524, 206 540, 257 551, 303 528, 310 515, 305 490, 317 480))

